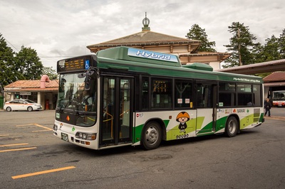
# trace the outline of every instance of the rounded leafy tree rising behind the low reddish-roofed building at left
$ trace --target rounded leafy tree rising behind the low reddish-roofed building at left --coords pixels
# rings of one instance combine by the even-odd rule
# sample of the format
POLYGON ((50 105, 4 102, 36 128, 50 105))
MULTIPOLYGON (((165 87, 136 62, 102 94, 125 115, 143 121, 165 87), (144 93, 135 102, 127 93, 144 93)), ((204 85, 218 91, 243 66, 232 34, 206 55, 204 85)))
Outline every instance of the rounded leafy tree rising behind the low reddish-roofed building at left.
POLYGON ((19 53, 16 54, 16 70, 24 76, 24 80, 41 79, 43 64, 38 58, 36 50, 22 46, 19 53))

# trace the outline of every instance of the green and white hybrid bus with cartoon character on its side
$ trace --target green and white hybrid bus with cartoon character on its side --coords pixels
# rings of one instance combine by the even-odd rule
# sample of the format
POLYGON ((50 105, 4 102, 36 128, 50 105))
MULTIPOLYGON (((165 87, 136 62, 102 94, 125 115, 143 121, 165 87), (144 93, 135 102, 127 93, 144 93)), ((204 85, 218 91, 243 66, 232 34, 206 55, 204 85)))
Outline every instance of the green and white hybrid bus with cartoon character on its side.
POLYGON ((177 55, 121 46, 59 60, 57 72, 53 135, 86 148, 151 150, 264 121, 261 77, 182 65, 177 55))

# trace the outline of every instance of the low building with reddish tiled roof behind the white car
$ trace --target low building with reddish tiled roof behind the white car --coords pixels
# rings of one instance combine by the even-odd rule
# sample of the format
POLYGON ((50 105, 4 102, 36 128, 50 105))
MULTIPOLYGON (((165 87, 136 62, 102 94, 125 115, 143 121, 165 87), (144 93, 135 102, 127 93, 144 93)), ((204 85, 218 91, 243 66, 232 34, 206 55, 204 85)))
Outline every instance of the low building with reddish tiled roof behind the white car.
POLYGON ((43 109, 55 109, 58 94, 58 80, 49 80, 43 75, 41 80, 19 80, 4 87, 6 101, 13 99, 31 99, 43 106, 43 109))

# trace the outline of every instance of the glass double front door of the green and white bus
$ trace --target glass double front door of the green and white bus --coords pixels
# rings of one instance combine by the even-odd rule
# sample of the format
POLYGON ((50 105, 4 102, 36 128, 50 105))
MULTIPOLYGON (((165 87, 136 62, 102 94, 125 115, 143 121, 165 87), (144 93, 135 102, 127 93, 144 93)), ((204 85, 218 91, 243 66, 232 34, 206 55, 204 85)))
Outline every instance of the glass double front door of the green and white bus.
POLYGON ((99 146, 130 144, 133 131, 133 78, 104 76, 101 88, 99 146))

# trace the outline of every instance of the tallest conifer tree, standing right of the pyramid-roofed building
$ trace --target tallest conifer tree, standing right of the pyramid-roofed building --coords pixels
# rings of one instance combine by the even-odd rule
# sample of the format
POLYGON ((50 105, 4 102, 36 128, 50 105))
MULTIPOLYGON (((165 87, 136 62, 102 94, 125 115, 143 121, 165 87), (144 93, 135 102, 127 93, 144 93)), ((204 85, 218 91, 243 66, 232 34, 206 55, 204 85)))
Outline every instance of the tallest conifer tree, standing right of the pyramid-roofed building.
POLYGON ((232 26, 228 28, 233 36, 229 39, 230 44, 224 46, 232 55, 224 61, 226 63, 224 68, 252 64, 254 59, 253 50, 261 45, 260 43, 254 43, 257 37, 249 32, 249 26, 244 26, 244 23, 233 22, 232 26))

